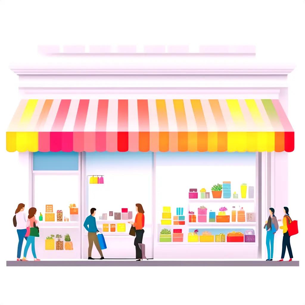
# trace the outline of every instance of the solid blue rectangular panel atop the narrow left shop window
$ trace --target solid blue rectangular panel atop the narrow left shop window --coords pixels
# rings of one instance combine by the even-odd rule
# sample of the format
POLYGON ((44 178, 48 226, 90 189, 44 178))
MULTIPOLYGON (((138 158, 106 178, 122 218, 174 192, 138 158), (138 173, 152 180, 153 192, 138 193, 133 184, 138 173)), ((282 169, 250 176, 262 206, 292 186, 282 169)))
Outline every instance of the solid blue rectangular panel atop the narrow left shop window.
POLYGON ((78 170, 78 152, 34 152, 33 170, 78 170))

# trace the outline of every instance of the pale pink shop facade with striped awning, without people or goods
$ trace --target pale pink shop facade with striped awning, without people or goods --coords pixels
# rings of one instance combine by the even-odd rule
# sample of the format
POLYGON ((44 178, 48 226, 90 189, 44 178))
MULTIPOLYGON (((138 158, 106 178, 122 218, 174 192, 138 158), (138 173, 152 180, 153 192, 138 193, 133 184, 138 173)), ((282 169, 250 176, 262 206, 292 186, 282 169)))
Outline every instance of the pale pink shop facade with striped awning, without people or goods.
POLYGON ((22 101, 8 129, 7 150, 19 151, 22 180, 28 181, 24 198, 44 216, 37 242, 41 258, 87 258, 83 223, 91 207, 97 208, 98 228, 109 225, 105 256, 134 258, 128 219, 109 219, 109 211, 127 208, 134 219, 135 203, 145 209, 148 258, 264 257, 268 208, 289 206, 282 190, 288 184, 287 154, 294 149, 286 117, 292 69, 240 53, 53 54, 13 67, 22 101), (90 183, 97 175, 103 184, 90 183), (230 198, 224 189, 220 199, 213 198, 211 187, 226 181, 230 198), (198 198, 189 198, 194 188, 198 198), (201 198, 202 188, 210 198, 201 198), (45 221, 47 204, 55 221, 45 221), (71 217, 70 204, 77 216, 71 217), (206 220, 199 217, 200 206, 207 209, 206 220), (241 208, 245 217, 251 213, 252 221, 232 222, 233 206, 237 214, 241 208), (217 215, 221 207, 229 222, 210 222, 210 210, 217 215), (69 221, 56 221, 57 210, 69 221), (107 219, 99 219, 102 214, 107 219), (118 232, 123 223, 125 231, 118 232), (164 228, 171 231, 170 241, 160 238, 164 228), (176 229, 181 233, 174 242, 176 229), (198 242, 191 242, 195 230, 198 242), (227 242, 232 231, 251 231, 255 241, 227 242), (203 232, 213 241, 200 242, 203 232), (225 241, 217 242, 221 233, 225 241), (69 234, 73 250, 46 250, 51 234, 69 234))

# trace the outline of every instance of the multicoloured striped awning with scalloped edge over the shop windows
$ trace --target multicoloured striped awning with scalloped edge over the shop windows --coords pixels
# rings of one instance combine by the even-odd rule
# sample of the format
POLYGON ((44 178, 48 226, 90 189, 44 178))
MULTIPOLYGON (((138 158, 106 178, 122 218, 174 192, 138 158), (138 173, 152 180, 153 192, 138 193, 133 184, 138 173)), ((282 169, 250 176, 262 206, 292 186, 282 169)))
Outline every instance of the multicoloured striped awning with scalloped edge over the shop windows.
POLYGON ((21 100, 9 152, 291 152, 278 100, 21 100))

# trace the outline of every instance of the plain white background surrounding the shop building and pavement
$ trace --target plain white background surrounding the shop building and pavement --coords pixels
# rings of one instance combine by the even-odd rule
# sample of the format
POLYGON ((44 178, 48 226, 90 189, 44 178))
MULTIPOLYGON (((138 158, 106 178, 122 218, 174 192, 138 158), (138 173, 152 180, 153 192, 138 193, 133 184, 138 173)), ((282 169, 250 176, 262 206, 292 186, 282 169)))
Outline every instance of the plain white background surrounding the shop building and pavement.
POLYGON ((296 145, 289 153, 289 186, 283 191, 289 193, 291 215, 298 218, 303 235, 304 13, 304 0, 0 0, 0 304, 304 304, 300 280, 305 271, 304 247, 293 240, 300 267, 5 267, 7 253, 16 247, 17 237, 12 239, 7 231, 12 229, 11 216, 18 188, 22 188, 18 154, 5 151, 5 130, 19 98, 18 77, 9 70, 9 62, 20 52, 34 54, 36 46, 43 44, 251 44, 257 46, 259 58, 295 63, 296 69, 289 75, 289 119, 296 145))

